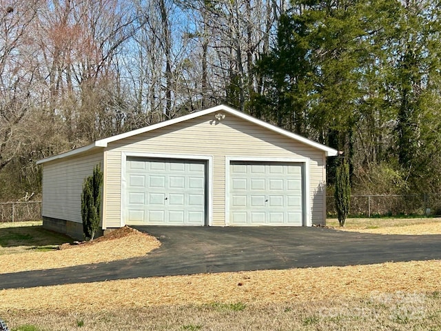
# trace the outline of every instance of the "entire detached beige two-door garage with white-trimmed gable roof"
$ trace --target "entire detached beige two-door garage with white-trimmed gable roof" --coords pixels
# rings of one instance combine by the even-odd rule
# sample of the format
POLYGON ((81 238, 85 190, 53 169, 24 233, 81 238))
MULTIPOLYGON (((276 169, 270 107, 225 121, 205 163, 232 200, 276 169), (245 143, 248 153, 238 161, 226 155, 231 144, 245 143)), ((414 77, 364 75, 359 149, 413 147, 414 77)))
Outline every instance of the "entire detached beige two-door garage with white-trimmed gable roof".
POLYGON ((103 231, 124 225, 325 223, 337 151, 217 106, 43 159, 43 226, 83 237, 81 190, 103 170, 103 231))

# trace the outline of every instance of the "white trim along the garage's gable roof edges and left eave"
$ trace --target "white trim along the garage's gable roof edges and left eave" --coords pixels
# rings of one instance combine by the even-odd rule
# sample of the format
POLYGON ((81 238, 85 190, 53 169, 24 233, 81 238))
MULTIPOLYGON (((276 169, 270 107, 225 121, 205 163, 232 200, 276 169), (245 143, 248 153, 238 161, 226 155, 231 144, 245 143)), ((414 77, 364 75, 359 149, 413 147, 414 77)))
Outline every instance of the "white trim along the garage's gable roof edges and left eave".
POLYGON ((338 153, 338 151, 334 150, 334 148, 327 147, 325 145, 322 145, 321 143, 317 143, 316 141, 312 141, 310 139, 302 137, 302 136, 295 134, 293 132, 289 132, 289 131, 284 130, 282 128, 278 128, 277 126, 273 126, 272 124, 269 124, 265 121, 261 121, 260 119, 256 119, 248 114, 245 114, 243 112, 239 112, 238 110, 235 110, 234 108, 231 108, 229 106, 220 105, 220 106, 208 108, 205 110, 199 110, 197 112, 192 112, 191 114, 187 114, 187 115, 184 115, 181 117, 176 117, 176 119, 170 119, 168 121, 156 123, 156 124, 153 124, 152 126, 146 126, 144 128, 140 128, 137 130, 132 130, 132 131, 125 132, 122 134, 116 134, 116 136, 108 137, 105 139, 100 139, 100 140, 97 140, 88 146, 84 146, 82 148, 77 148, 75 150, 70 150, 69 152, 64 152, 62 154, 54 155, 53 157, 47 157, 45 159, 39 160, 39 161, 37 161, 37 164, 46 163, 49 161, 53 161, 56 159, 62 159, 65 157, 70 157, 72 155, 83 153, 88 150, 91 150, 92 148, 105 148, 105 147, 107 147, 108 143, 112 143, 114 141, 118 141, 118 140, 125 139, 128 137, 133 137, 133 136, 136 136, 137 134, 143 134, 145 132, 149 132, 149 131, 156 130, 159 128, 164 128, 165 126, 172 126, 173 124, 176 124, 176 123, 181 123, 181 122, 187 121, 189 119, 194 119, 196 117, 201 117, 206 114, 210 114, 212 112, 220 112, 220 111, 232 114, 236 117, 240 117, 241 119, 245 119, 246 121, 250 121, 258 126, 262 126, 263 128, 267 128, 268 130, 277 132, 278 134, 283 134, 285 137, 294 139, 296 141, 300 141, 301 143, 305 143, 305 145, 307 145, 307 146, 311 146, 311 147, 317 148, 318 150, 322 150, 323 152, 326 153, 327 157, 334 157, 338 153))

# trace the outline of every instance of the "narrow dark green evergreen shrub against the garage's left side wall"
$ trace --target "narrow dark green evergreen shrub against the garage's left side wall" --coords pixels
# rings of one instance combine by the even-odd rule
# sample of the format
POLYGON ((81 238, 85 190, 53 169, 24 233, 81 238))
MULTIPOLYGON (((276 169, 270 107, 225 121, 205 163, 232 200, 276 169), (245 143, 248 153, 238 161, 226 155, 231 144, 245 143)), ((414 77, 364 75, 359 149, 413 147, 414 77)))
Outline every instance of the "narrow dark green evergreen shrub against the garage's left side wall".
POLYGON ((100 165, 96 165, 92 176, 84 180, 81 193, 81 219, 85 240, 93 240, 99 227, 102 183, 103 172, 100 165))

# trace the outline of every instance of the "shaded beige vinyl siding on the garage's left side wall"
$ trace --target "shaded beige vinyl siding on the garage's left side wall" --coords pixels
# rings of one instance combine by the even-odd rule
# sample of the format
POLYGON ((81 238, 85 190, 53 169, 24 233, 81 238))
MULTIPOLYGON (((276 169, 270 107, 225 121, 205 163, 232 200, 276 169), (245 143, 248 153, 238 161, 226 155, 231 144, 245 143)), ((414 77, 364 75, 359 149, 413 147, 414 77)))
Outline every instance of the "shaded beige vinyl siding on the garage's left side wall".
POLYGON ((98 163, 102 152, 44 163, 42 215, 81 223, 83 182, 98 163))

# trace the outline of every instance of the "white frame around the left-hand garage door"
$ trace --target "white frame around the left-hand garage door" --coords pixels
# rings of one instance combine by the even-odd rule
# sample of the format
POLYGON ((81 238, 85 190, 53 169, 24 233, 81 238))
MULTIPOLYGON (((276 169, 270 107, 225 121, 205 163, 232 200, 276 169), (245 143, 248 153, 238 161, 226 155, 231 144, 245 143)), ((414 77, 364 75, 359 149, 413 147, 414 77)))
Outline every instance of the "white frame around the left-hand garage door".
POLYGON ((143 152, 121 152, 121 227, 125 225, 125 219, 127 217, 125 209, 123 208, 127 201, 126 189, 127 179, 125 174, 127 173, 127 157, 141 157, 143 159, 179 159, 190 161, 206 161, 207 162, 207 174, 205 175, 205 187, 207 192, 207 201, 205 205, 207 220, 205 223, 208 226, 212 226, 213 223, 213 157, 212 155, 189 155, 189 154, 160 154, 160 153, 143 153, 143 152))

